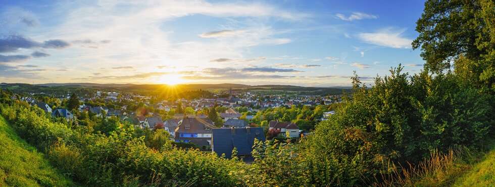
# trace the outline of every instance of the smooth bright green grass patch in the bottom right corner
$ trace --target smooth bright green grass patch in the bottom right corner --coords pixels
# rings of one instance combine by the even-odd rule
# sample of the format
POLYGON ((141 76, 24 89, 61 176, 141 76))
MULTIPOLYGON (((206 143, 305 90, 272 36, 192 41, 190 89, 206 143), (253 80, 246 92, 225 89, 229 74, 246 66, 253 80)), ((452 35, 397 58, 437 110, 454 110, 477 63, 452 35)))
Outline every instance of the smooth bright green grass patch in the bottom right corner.
POLYGON ((454 186, 495 186, 495 145, 479 163, 457 178, 454 186))

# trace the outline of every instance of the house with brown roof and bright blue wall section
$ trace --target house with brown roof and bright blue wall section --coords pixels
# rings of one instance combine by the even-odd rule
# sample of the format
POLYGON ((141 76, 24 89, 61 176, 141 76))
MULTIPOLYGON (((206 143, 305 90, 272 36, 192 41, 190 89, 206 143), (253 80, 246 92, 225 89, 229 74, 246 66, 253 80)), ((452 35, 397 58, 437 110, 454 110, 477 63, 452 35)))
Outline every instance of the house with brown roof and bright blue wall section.
POLYGON ((197 146, 209 147, 212 138, 213 121, 209 118, 184 117, 175 130, 175 142, 191 142, 197 146))

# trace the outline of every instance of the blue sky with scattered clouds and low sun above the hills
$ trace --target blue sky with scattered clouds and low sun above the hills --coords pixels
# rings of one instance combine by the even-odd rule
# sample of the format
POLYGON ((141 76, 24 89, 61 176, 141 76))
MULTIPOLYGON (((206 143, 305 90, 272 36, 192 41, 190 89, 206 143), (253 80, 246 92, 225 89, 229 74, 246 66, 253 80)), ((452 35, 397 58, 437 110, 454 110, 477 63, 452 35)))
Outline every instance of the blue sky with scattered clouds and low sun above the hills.
POLYGON ((0 2, 0 82, 349 86, 424 60, 423 1, 0 2))

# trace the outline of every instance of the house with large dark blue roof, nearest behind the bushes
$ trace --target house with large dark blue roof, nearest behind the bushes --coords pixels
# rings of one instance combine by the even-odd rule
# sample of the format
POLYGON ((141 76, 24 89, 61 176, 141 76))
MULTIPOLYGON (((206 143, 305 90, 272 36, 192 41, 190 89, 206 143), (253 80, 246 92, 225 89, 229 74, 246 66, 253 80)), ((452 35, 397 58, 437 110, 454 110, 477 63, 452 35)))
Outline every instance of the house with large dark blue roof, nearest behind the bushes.
POLYGON ((220 157, 232 157, 232 150, 237 149, 237 157, 244 161, 254 161, 251 155, 255 139, 266 141, 263 128, 222 128, 212 130, 212 152, 220 157))

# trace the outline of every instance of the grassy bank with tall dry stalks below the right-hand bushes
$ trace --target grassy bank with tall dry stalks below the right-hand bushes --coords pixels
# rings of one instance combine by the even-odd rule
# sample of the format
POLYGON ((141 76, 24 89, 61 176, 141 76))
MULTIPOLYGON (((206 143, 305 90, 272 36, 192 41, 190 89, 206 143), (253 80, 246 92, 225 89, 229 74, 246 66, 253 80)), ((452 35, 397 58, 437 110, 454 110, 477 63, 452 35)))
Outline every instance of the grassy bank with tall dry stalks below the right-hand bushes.
POLYGON ((385 167, 392 175, 373 186, 495 186, 495 143, 488 152, 467 148, 433 151, 415 167, 385 167))

